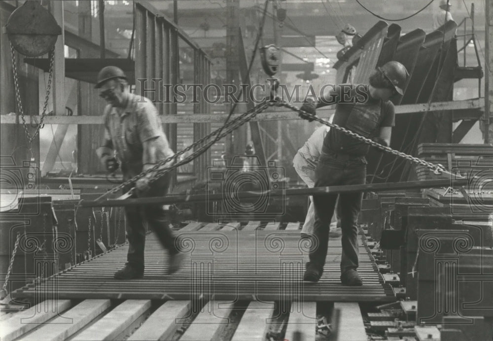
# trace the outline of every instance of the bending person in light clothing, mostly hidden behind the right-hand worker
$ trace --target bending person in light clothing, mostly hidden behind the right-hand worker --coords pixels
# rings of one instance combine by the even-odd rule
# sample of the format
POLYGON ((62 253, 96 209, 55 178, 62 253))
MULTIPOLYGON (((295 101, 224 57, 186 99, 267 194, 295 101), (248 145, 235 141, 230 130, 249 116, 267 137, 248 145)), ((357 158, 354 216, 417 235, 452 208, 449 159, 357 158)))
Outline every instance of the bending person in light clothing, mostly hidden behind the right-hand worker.
MULTIPOLYGON (((329 122, 332 122, 334 115, 331 115, 329 122)), ((307 184, 308 187, 315 186, 315 169, 317 168, 318 158, 320 157, 320 151, 322 149, 323 139, 329 132, 330 127, 322 125, 318 127, 315 132, 308 138, 303 146, 298 149, 298 152, 293 158, 294 170, 298 173, 300 178, 307 184)), ((335 211, 336 227, 341 227, 341 219, 338 211, 335 211)), ((301 234, 305 235, 313 234, 313 226, 315 223, 315 207, 313 205, 313 197, 310 196, 310 205, 308 205, 308 211, 305 218, 305 223, 301 229, 301 234)))

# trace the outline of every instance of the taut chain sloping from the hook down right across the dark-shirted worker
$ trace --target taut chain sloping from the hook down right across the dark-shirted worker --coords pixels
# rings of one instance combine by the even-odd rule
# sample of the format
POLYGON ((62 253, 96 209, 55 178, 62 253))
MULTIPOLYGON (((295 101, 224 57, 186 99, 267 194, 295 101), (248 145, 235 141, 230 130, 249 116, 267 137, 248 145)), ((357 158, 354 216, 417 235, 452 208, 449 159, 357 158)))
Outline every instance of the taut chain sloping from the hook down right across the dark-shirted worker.
POLYGON ((373 141, 373 140, 371 140, 371 139, 369 139, 367 137, 358 135, 358 134, 352 132, 351 130, 348 130, 346 128, 340 127, 337 124, 330 123, 330 122, 325 121, 325 120, 323 120, 321 118, 318 118, 316 115, 313 115, 311 113, 308 113, 306 111, 303 111, 303 110, 301 110, 301 109, 299 109, 299 108, 297 108, 294 105, 291 105, 289 103, 286 103, 286 102, 277 102, 277 103, 274 103, 274 105, 276 105, 276 106, 284 106, 286 108, 289 108, 289 109, 291 109, 293 111, 296 111, 298 114, 303 114, 306 117, 310 117, 314 121, 317 121, 317 122, 319 122, 321 124, 324 124, 326 126, 329 126, 331 128, 334 128, 336 130, 339 130, 339 131, 343 132, 344 134, 347 134, 347 135, 349 135, 349 136, 351 136, 351 137, 353 137, 355 139, 358 139, 358 140, 360 140, 360 141, 362 141, 362 142, 364 142, 366 144, 369 144, 369 145, 371 145, 373 147, 377 147, 377 148, 379 148, 379 149, 381 149, 383 151, 386 151, 386 152, 388 152, 390 154, 393 154, 393 155, 396 155, 396 156, 400 156, 400 157, 402 157, 402 158, 404 158, 406 160, 409 160, 409 161, 411 161, 411 162, 413 162, 415 164, 419 164, 419 165, 421 165, 423 167, 426 167, 429 170, 433 171, 433 173, 436 174, 436 175, 439 175, 439 174, 441 174, 443 172, 447 172, 448 173, 448 171, 442 165, 435 165, 435 164, 432 164, 431 162, 424 161, 424 160, 419 159, 417 157, 414 157, 412 155, 408 155, 406 153, 400 152, 400 151, 395 150, 395 149, 392 149, 390 147, 386 147, 386 146, 384 146, 384 145, 382 145, 382 144, 380 144, 378 142, 375 142, 375 141, 373 141))

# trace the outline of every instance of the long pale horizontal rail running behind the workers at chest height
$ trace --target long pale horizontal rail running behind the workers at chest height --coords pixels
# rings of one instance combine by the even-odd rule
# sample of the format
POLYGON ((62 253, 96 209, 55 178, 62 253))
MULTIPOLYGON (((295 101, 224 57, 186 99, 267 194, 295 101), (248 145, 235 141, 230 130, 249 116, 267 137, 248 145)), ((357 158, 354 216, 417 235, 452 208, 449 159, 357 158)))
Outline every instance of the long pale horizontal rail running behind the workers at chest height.
MULTIPOLYGON (((137 66, 136 66, 137 67, 137 66)), ((454 112, 483 108, 485 105, 484 98, 464 101, 432 102, 396 105, 395 114, 423 113, 449 110, 453 115, 454 112)), ((334 109, 321 108, 317 110, 317 116, 328 119, 334 109)), ((231 120, 239 114, 231 115, 231 120)), ((221 123, 228 117, 228 114, 189 114, 189 115, 163 115, 163 123, 221 123)), ((298 113, 291 110, 264 111, 257 114, 252 121, 276 121, 276 120, 296 120, 300 119, 298 113)), ((0 124, 15 124, 15 115, 0 115, 0 124)), ((46 116, 44 124, 103 124, 103 116, 46 116)))

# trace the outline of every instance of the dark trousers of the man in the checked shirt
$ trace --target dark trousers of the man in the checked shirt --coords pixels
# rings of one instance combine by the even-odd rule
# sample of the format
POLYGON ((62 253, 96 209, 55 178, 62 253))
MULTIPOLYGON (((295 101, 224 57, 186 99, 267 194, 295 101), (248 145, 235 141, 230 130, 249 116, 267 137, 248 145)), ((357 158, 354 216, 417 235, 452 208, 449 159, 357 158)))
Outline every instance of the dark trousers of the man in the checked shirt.
MULTIPOLYGON (((163 197, 168 194, 171 175, 165 174, 152 183, 150 189, 140 197, 163 197)), ((123 189, 127 192, 133 185, 123 189)), ((134 194, 132 198, 137 198, 134 194)), ((127 239, 129 242, 127 262, 138 270, 144 270, 145 223, 152 229, 170 254, 176 254, 175 235, 170 228, 170 220, 162 204, 125 206, 127 219, 127 239)))

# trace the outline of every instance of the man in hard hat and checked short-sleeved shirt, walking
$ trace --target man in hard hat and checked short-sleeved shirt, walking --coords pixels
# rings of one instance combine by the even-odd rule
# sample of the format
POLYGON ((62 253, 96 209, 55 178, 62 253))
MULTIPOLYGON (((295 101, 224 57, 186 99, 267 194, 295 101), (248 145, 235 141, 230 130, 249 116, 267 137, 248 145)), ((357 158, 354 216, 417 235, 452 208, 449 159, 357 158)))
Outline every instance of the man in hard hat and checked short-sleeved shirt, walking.
MULTIPOLYGON (((99 89, 100 96, 107 102, 103 116, 105 143, 96 152, 108 172, 112 173, 120 167, 126 181, 175 155, 164 134, 156 107, 150 100, 130 93, 122 69, 114 66, 101 69, 96 89, 99 89)), ((155 179, 150 186, 153 176, 155 173, 150 172, 141 177, 126 186, 124 193, 135 187, 134 198, 166 195, 170 186, 170 173, 155 179)), ((125 206, 125 215, 129 242, 127 263, 114 273, 114 278, 134 279, 143 276, 145 222, 170 254, 167 272, 175 273, 180 268, 184 254, 177 249, 176 237, 170 229, 163 205, 125 206)))

